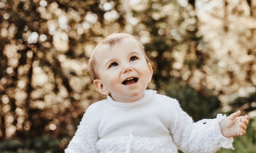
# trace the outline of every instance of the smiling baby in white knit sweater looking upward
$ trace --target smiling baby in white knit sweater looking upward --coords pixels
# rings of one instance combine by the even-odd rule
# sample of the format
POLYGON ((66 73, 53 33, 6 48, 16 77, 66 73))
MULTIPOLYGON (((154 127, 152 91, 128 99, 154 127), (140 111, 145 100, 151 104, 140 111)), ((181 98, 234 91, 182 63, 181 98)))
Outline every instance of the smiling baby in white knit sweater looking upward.
POLYGON ((193 122, 176 99, 146 90, 153 70, 142 44, 115 33, 95 47, 89 71, 107 99, 90 105, 66 153, 188 153, 232 148, 245 134, 248 116, 240 111, 193 122))

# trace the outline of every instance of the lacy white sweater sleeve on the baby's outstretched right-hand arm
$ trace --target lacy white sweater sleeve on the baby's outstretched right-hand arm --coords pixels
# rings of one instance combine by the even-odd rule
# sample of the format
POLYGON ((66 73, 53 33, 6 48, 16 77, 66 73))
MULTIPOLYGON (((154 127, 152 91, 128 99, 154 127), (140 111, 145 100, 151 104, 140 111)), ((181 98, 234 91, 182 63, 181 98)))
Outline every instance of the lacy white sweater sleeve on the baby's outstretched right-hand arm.
POLYGON ((233 138, 221 134, 216 119, 195 123, 176 100, 174 109, 175 121, 170 132, 178 149, 187 153, 212 153, 221 147, 232 148, 233 138))

